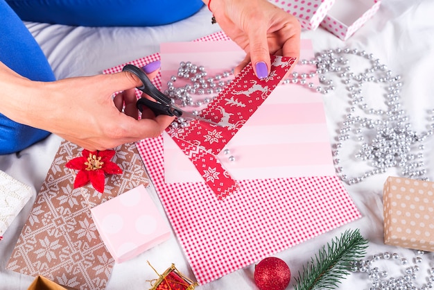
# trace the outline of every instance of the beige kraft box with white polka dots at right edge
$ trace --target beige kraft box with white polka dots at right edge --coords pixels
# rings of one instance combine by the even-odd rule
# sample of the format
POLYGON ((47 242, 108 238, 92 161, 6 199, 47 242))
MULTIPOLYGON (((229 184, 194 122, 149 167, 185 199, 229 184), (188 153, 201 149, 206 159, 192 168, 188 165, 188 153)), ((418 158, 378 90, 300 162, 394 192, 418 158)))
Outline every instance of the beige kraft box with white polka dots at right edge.
POLYGON ((434 182, 389 177, 383 210, 384 244, 434 251, 434 182))

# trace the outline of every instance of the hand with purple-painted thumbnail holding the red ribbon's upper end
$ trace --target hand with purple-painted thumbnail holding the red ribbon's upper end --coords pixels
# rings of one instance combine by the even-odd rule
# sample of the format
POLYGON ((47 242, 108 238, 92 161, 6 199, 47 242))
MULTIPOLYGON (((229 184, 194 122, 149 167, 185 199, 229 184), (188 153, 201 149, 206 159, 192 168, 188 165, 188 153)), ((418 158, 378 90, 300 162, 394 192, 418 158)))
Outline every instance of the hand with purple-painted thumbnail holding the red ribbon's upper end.
POLYGON ((237 74, 252 61, 258 78, 270 73, 270 54, 300 56, 300 22, 268 0, 204 0, 217 23, 247 53, 237 74))

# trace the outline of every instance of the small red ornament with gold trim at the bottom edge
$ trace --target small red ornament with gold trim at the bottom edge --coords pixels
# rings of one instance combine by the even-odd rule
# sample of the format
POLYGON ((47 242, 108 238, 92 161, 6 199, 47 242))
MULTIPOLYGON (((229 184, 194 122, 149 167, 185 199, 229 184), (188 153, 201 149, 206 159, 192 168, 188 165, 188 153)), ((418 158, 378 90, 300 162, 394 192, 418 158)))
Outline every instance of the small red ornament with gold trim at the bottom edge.
MULTIPOLYGON (((150 262, 148 264, 159 275, 150 262)), ((162 275, 159 275, 158 279, 153 280, 151 286, 150 290, 193 290, 194 287, 198 286, 198 283, 182 275, 175 264, 172 264, 162 275)))

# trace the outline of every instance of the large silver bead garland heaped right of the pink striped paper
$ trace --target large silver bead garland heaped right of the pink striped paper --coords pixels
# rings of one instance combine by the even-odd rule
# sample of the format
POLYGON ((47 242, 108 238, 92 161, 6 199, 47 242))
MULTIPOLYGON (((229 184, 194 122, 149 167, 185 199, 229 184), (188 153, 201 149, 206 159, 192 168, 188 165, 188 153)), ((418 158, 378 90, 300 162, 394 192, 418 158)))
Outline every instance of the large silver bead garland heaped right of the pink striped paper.
MULTIPOLYGON (((399 167, 404 177, 428 180, 422 142, 433 135, 434 123, 426 132, 411 130, 409 117, 400 103, 401 76, 393 75, 372 53, 349 48, 322 51, 315 59, 301 60, 299 64, 316 65, 317 69, 310 74, 293 72, 292 78, 284 83, 306 85, 315 92, 328 94, 335 91, 335 85, 333 80, 326 78, 327 75, 340 78, 347 89, 351 106, 345 121, 340 124, 336 144, 333 144, 333 161, 342 180, 354 185, 367 177, 384 173, 390 167, 399 167), (370 65, 364 72, 356 74, 349 66, 347 55, 363 58, 370 65), (315 86, 309 82, 309 78, 315 75, 322 85, 315 86), (368 105, 362 91, 367 83, 383 86, 387 108, 375 109, 368 105), (339 158, 342 146, 350 140, 358 146, 354 155, 356 160, 367 162, 372 167, 360 176, 347 176, 339 158)), ((429 113, 431 121, 434 121, 433 110, 429 113)))

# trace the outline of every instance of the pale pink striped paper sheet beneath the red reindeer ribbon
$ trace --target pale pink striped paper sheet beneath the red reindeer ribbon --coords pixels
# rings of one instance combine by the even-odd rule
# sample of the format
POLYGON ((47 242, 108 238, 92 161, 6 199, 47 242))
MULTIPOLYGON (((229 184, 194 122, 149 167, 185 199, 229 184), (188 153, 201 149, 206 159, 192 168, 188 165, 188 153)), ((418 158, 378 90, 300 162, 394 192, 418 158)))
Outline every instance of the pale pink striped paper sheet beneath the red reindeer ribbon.
MULTIPOLYGON (((310 40, 302 40, 301 49, 302 59, 309 59, 314 54, 310 40)), ((167 88, 166 83, 177 73, 177 66, 181 61, 188 60, 204 66, 207 71, 212 71, 212 74, 209 72, 209 77, 212 77, 238 65, 238 62, 243 60, 243 56, 244 52, 230 41, 217 42, 217 44, 214 42, 162 44, 162 89, 164 91, 167 88), (175 48, 179 48, 179 51, 175 52, 175 48), (214 52, 216 50, 217 53, 214 52), (216 56, 209 58, 209 53, 216 56)), ((296 69, 299 74, 309 74, 315 70, 315 65, 300 65, 296 69)), ((315 85, 319 83, 318 78, 311 78, 309 81, 315 85)), ((203 95, 200 97, 203 98, 203 95)), ((231 97, 223 99, 230 100, 231 97)), ((236 100, 242 99, 243 96, 236 96, 236 100)), ((234 112, 236 110, 238 112, 245 110, 236 105, 231 107, 229 102, 227 107, 228 110, 232 109, 232 114, 236 114, 234 112)), ((214 114, 220 113, 218 109, 212 110, 214 114)), ((216 117, 207 114, 207 117, 216 117)), ((235 161, 229 161, 229 155, 225 154, 225 150, 215 152, 215 155, 227 174, 235 180, 336 174, 322 94, 313 93, 306 87, 278 85, 250 119, 243 123, 239 130, 233 131, 236 131, 236 134, 231 137, 224 149, 230 152, 229 155, 235 157, 235 161)), ((171 134, 171 130, 168 133, 171 134)), ((175 133, 177 132, 171 135, 175 133)), ((218 148, 222 146, 221 140, 224 138, 219 130, 202 135, 204 138, 207 137, 209 142, 213 142, 212 145, 218 148)), ((209 171, 207 168, 205 170, 209 171)), ((164 176, 168 183, 203 182, 204 180, 191 160, 180 151, 179 146, 167 134, 164 134, 164 176)))

